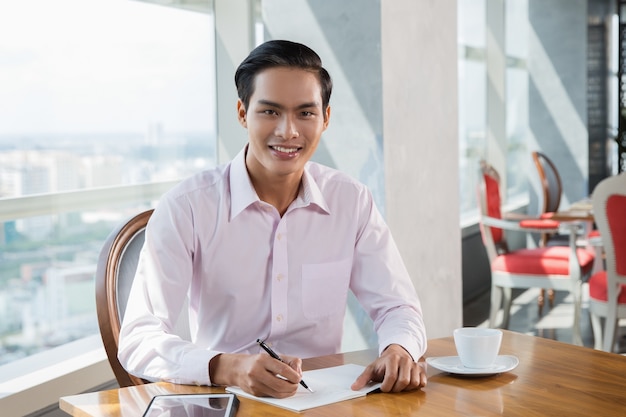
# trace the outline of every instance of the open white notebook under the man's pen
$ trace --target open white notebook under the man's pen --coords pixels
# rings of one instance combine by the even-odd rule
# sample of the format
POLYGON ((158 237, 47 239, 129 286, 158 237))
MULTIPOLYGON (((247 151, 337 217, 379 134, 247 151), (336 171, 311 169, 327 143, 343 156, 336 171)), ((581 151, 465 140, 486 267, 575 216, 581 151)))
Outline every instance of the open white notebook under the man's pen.
POLYGON ((291 411, 304 411, 339 401, 363 397, 380 388, 380 383, 370 383, 359 391, 350 389, 352 383, 365 370, 364 366, 345 364, 331 368, 316 369, 302 373, 302 379, 314 392, 299 386, 296 394, 289 398, 257 397, 239 387, 227 387, 226 391, 238 396, 272 404, 291 411))

